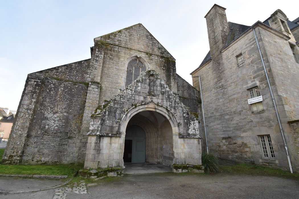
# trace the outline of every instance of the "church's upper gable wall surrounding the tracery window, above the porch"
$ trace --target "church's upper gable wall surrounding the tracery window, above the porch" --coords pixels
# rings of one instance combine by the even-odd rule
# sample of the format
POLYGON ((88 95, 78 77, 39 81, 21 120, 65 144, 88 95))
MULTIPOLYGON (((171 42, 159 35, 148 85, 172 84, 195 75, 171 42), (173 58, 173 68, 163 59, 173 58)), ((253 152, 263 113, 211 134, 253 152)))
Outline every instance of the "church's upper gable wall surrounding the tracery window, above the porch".
POLYGON ((147 70, 155 70, 168 87, 177 92, 174 58, 142 24, 95 38, 94 46, 94 51, 102 48, 104 52, 100 104, 117 95, 119 89, 125 88, 128 60, 136 55, 146 61, 147 70))

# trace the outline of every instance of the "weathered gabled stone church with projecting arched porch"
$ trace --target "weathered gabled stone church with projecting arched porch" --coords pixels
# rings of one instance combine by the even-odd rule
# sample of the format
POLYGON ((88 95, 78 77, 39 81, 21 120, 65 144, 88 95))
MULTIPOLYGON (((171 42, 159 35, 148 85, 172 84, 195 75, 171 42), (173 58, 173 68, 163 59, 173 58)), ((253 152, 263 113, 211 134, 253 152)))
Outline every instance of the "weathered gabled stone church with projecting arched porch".
POLYGON ((136 24, 95 38, 90 59, 28 75, 3 161, 198 166, 200 110, 173 56, 136 24))

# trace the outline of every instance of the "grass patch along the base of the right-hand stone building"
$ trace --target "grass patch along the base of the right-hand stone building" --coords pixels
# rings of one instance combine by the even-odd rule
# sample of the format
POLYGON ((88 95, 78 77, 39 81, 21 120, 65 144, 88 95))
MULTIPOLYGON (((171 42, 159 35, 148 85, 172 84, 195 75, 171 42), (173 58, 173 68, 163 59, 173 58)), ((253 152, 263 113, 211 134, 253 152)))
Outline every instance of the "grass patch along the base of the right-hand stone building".
POLYGON ((232 166, 220 166, 222 173, 229 174, 251 174, 251 175, 271 175, 285 178, 299 178, 299 173, 290 173, 281 169, 272 169, 254 164, 236 164, 232 166))

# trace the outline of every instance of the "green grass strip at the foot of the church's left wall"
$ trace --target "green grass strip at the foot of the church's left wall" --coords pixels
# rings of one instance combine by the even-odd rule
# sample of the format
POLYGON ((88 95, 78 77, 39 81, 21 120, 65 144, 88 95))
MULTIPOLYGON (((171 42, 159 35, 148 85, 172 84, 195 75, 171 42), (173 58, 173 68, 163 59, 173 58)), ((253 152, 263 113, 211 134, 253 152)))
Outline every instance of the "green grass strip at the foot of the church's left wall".
POLYGON ((0 164, 0 174, 73 176, 78 170, 82 168, 83 168, 83 164, 56 164, 56 165, 0 164))

